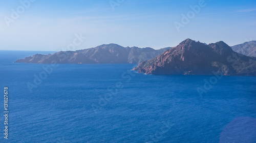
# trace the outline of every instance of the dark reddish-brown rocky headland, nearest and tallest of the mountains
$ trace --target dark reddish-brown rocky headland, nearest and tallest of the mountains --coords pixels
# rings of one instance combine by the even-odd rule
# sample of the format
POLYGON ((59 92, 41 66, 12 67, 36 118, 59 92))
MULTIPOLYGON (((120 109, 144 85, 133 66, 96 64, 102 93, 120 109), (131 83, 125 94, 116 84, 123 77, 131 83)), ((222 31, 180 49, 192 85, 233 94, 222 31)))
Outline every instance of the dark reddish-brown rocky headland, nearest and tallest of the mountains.
POLYGON ((186 39, 133 70, 146 74, 256 76, 256 58, 234 52, 222 41, 205 45, 186 39))

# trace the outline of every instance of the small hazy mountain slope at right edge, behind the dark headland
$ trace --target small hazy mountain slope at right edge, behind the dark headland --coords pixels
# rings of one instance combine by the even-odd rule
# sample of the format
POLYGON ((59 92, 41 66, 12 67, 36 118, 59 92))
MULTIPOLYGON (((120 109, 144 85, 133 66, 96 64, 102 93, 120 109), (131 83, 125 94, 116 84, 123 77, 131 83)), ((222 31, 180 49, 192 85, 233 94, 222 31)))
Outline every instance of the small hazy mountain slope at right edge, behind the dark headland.
POLYGON ((231 47, 233 51, 256 57, 256 41, 245 42, 243 44, 234 45, 231 47))

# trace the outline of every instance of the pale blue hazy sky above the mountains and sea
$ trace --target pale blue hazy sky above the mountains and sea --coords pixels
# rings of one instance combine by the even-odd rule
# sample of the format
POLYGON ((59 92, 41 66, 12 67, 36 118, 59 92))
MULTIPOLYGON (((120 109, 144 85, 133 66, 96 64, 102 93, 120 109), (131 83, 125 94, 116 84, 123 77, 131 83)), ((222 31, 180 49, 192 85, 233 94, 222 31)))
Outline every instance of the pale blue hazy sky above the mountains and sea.
POLYGON ((0 50, 233 46, 256 40, 255 17, 255 0, 0 0, 0 50))

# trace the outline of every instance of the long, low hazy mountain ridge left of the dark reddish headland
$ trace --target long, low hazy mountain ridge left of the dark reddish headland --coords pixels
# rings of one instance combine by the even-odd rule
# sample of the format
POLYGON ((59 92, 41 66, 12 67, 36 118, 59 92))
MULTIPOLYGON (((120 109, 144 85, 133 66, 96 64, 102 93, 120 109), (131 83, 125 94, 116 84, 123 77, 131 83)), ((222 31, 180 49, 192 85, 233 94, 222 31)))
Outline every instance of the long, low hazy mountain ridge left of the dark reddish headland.
POLYGON ((153 48, 122 47, 117 44, 100 45, 94 48, 77 51, 59 51, 54 54, 35 54, 19 59, 15 63, 50 64, 138 64, 155 58, 171 47, 155 50, 153 48))

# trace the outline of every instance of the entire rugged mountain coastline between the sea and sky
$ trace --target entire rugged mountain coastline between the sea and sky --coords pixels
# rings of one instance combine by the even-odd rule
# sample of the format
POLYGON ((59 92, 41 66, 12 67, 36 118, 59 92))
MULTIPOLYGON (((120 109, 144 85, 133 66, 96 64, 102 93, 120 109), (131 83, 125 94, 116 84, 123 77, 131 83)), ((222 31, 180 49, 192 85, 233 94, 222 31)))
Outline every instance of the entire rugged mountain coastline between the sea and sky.
POLYGON ((222 41, 207 45, 186 39, 174 48, 155 50, 104 44, 77 51, 35 54, 19 59, 16 63, 50 64, 52 61, 58 64, 140 63, 134 70, 146 74, 209 75, 216 72, 223 75, 256 75, 256 58, 250 57, 255 56, 255 45, 256 41, 250 41, 231 48, 222 41))

